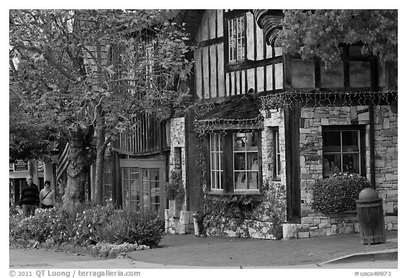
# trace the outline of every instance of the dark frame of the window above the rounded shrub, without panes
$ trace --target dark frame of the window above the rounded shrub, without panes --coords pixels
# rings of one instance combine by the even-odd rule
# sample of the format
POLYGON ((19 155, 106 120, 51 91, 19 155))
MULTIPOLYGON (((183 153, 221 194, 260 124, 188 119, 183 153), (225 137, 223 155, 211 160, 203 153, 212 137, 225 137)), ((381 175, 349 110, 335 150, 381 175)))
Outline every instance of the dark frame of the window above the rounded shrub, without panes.
MULTIPOLYGON (((335 126, 323 126, 322 127, 322 163, 324 163, 324 157, 326 156, 326 151, 324 151, 324 132, 341 132, 341 151, 340 152, 328 152, 331 153, 338 153, 341 155, 341 170, 340 173, 344 173, 342 170, 343 168, 343 161, 342 156, 343 154, 347 153, 355 153, 355 152, 343 152, 343 144, 342 144, 342 132, 349 132, 349 131, 357 131, 358 132, 358 146, 359 146, 359 161, 360 161, 360 175, 366 177, 366 128, 365 125, 362 124, 350 124, 350 125, 335 125, 335 126)), ((329 178, 331 175, 325 175, 324 167, 322 168, 322 175, 323 178, 329 178)))

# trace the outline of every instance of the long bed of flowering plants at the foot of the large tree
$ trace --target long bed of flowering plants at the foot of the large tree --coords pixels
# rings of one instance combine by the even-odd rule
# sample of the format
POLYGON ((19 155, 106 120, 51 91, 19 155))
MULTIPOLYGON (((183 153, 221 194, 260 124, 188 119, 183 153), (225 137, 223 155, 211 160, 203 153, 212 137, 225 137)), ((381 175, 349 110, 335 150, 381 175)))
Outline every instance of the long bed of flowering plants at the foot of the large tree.
POLYGON ((88 246, 97 243, 157 246, 163 238, 164 221, 155 214, 136 214, 115 209, 113 204, 90 209, 37 209, 35 216, 9 214, 11 241, 35 241, 47 245, 88 246))

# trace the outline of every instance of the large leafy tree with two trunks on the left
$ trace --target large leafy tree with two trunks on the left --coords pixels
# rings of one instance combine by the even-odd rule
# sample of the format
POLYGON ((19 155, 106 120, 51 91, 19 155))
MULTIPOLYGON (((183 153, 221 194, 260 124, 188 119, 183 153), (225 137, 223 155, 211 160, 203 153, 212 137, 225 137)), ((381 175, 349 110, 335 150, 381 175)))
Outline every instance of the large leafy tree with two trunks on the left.
POLYGON ((69 139, 64 206, 83 199, 96 137, 96 190, 102 201, 103 156, 140 113, 160 119, 182 109, 177 90, 191 70, 180 26, 165 10, 16 10, 10 16, 11 88, 25 110, 69 139), (11 66, 13 68, 13 66, 11 66), (11 69, 12 71, 12 69, 11 69))

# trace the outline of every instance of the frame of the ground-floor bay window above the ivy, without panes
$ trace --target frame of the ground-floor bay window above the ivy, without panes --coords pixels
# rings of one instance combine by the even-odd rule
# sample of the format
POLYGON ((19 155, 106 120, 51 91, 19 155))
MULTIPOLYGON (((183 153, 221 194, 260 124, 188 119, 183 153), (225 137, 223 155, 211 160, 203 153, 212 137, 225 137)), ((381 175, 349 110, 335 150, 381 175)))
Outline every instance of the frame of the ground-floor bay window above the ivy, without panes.
POLYGON ((211 195, 260 195, 261 194, 261 184, 263 182, 262 180, 262 169, 261 169, 261 129, 252 129, 252 130, 247 130, 247 129, 229 129, 225 132, 213 132, 211 134, 208 134, 207 137, 208 144, 207 148, 208 151, 206 151, 206 191, 211 194, 211 195), (258 188, 256 190, 235 190, 235 164, 234 164, 234 149, 233 149, 233 134, 236 133, 252 133, 256 132, 256 137, 257 137, 257 158, 258 158, 258 164, 259 164, 259 170, 257 172, 258 175, 258 188), (222 189, 215 189, 213 190, 212 188, 212 183, 211 183, 211 136, 213 134, 220 134, 220 143, 223 144, 222 150, 223 150, 223 159, 220 161, 222 163, 222 168, 223 168, 223 188, 222 189))

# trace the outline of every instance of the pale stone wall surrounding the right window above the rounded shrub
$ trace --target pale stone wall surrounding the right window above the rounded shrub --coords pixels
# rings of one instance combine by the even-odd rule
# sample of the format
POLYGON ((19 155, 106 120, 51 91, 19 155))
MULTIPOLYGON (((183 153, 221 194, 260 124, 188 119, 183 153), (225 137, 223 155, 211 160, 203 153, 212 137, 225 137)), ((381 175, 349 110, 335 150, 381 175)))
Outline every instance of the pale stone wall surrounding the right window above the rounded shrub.
MULTIPOLYGON (((300 177, 302 224, 315 216, 312 187, 322 179, 322 127, 363 124, 366 128, 366 169, 370 180, 370 141, 368 106, 302 108, 300 127, 300 177)), ((387 230, 397 229, 397 115, 389 105, 374 107, 374 146, 376 190, 383 199, 387 230)), ((317 223, 318 224, 318 223, 317 223)), ((329 221, 328 221, 329 224, 329 221)))

